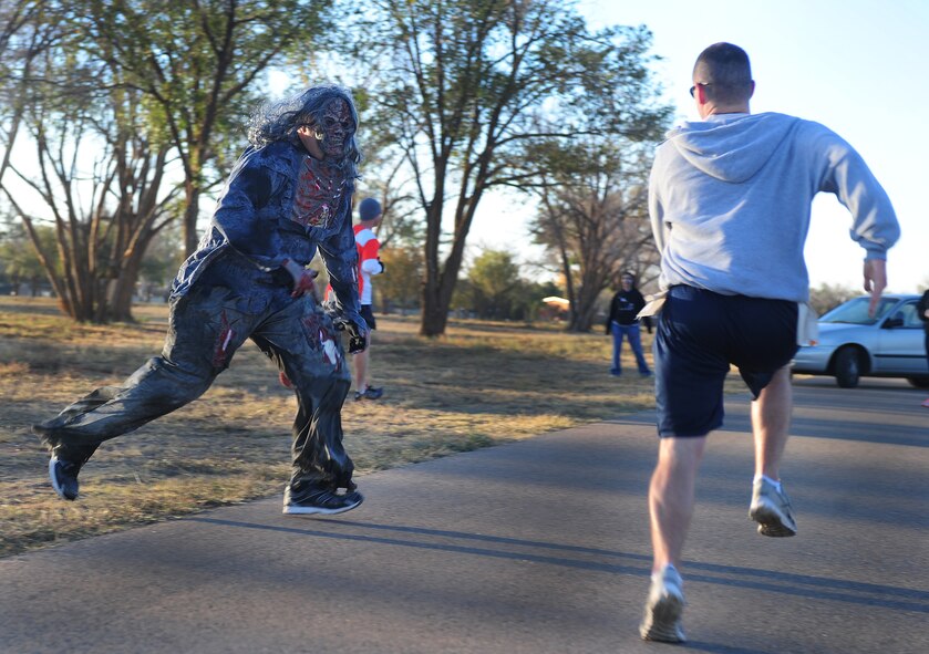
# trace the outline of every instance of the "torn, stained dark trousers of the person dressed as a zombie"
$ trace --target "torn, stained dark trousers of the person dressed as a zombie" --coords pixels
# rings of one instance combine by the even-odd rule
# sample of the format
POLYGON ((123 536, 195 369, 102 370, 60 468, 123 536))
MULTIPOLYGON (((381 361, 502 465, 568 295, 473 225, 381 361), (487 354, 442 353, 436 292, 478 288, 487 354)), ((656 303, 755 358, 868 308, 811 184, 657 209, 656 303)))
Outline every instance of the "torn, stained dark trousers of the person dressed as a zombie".
POLYGON ((311 295, 293 299, 267 273, 234 260, 211 263, 172 300, 161 356, 33 429, 60 459, 83 464, 102 442, 203 395, 246 339, 275 361, 297 394, 291 486, 353 488, 341 422, 351 374, 339 332, 311 295))

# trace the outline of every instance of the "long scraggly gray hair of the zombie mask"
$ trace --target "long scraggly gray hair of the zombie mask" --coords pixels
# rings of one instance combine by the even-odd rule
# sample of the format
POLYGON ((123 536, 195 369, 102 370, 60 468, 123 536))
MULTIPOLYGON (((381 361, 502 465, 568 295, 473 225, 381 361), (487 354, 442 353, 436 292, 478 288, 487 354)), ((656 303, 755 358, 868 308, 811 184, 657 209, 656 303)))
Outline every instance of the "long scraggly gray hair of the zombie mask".
POLYGON ((358 177, 358 164, 361 153, 354 135, 358 129, 358 111, 348 89, 336 84, 312 86, 299 95, 276 103, 266 103, 258 107, 248 124, 248 141, 255 147, 262 147, 276 141, 299 143, 297 129, 301 125, 322 123, 326 105, 332 100, 342 100, 349 106, 355 129, 345 139, 345 153, 342 162, 333 162, 351 178, 358 177))

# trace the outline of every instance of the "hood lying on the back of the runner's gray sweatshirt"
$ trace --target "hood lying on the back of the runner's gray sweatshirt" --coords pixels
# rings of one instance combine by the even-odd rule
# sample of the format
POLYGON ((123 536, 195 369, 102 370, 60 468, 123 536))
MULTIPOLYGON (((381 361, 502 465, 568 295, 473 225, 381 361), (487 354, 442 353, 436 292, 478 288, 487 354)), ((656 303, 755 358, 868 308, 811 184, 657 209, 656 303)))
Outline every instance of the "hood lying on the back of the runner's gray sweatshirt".
POLYGON ((785 114, 741 114, 683 123, 668 133, 668 142, 706 175, 737 184, 757 173, 799 122, 785 114))

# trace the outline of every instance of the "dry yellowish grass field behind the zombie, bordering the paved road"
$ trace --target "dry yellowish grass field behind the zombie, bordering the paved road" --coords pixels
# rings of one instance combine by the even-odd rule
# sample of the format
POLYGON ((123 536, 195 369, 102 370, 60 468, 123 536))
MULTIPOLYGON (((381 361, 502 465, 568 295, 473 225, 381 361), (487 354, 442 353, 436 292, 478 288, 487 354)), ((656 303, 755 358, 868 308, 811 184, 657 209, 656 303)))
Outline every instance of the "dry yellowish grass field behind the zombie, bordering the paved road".
MULTIPOLYGON (((141 305, 135 316, 81 325, 51 300, 0 298, 0 557, 282 492, 296 399, 247 344, 200 399, 105 443, 81 471, 79 501, 55 496, 30 425, 161 351, 167 309, 141 305)), ((599 330, 453 321, 427 340, 414 318, 378 315, 378 326, 372 378, 384 396, 350 395, 343 411, 362 490, 372 470, 653 406, 631 356, 630 374, 608 374, 599 330)))

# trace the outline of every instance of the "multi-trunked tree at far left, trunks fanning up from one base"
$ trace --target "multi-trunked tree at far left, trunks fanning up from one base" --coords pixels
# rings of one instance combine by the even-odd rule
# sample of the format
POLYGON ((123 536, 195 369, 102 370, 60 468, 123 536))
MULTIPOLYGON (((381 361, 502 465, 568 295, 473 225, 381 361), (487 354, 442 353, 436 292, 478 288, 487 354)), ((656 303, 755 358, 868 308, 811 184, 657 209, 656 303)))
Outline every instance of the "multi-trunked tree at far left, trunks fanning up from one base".
POLYGON ((62 37, 33 62, 22 121, 35 159, 10 164, 19 184, 3 181, 2 190, 62 311, 79 321, 131 320, 145 248, 175 216, 164 181, 171 146, 145 135, 141 94, 106 87, 112 71, 69 56, 73 48, 62 37), (45 221, 54 251, 40 238, 45 221))

